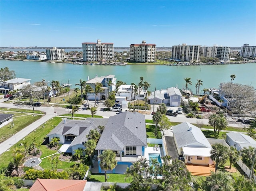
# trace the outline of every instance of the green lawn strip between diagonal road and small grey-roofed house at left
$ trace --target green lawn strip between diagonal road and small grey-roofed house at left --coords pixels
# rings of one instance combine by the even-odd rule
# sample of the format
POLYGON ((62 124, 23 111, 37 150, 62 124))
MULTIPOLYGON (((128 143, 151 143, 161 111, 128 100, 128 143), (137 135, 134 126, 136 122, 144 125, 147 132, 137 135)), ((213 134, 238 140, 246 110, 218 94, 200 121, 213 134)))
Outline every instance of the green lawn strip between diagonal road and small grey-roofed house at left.
MULTIPOLYGON (((54 117, 54 118, 48 120, 46 123, 44 123, 44 127, 42 125, 39 128, 37 128, 35 131, 28 134, 28 136, 26 136, 26 138, 25 138, 25 141, 28 141, 29 143, 31 143, 33 141, 33 139, 36 138, 37 142, 44 142, 45 136, 61 121, 62 121, 62 119, 59 117, 54 117)), ((12 161, 12 151, 14 150, 14 148, 23 148, 22 146, 19 146, 20 143, 23 141, 24 140, 20 140, 19 142, 17 142, 10 148, 10 151, 4 152, 3 154, 0 155, 0 161, 1 161, 0 168, 6 167, 8 165, 8 163, 10 161, 12 161)), ((42 148, 43 148, 43 146, 42 146, 42 148)), ((56 152, 56 151, 54 151, 54 152, 56 152)), ((43 155, 44 155, 44 150, 43 150, 43 155)))

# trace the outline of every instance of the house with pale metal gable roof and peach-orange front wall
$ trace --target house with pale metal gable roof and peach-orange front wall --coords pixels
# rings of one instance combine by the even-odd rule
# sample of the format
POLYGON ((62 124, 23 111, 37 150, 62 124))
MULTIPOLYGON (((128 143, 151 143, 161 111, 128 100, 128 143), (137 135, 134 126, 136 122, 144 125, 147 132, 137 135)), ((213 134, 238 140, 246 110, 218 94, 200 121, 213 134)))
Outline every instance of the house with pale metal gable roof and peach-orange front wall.
POLYGON ((212 146, 200 128, 184 122, 172 126, 174 142, 178 154, 184 157, 185 163, 196 165, 214 164, 210 158, 212 146))

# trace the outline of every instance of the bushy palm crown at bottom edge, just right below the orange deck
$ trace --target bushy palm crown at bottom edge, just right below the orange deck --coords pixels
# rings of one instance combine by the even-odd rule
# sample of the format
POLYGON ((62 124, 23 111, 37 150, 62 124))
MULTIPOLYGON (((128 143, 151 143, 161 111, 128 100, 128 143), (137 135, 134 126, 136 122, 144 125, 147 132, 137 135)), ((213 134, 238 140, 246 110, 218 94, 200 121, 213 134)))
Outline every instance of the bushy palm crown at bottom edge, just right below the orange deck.
POLYGON ((234 179, 223 172, 211 172, 211 175, 206 177, 205 187, 207 191, 234 191, 232 184, 234 179))

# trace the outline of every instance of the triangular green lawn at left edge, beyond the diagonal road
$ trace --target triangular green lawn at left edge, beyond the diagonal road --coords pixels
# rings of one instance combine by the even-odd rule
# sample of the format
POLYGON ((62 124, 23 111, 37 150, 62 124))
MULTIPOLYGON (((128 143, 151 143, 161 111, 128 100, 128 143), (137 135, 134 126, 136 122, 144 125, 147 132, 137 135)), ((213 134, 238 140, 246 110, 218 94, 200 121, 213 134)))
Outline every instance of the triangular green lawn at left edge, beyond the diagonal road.
MULTIPOLYGON (((1 112, 0 112, 1 113, 1 112)), ((4 142, 26 126, 32 124, 36 120, 40 119, 42 115, 36 115, 36 114, 29 114, 26 113, 12 113, 12 112, 4 112, 5 114, 14 114, 13 116, 13 123, 14 126, 12 126, 12 122, 9 122, 7 125, 3 126, 1 128, 1 136, 0 136, 0 143, 4 142)))

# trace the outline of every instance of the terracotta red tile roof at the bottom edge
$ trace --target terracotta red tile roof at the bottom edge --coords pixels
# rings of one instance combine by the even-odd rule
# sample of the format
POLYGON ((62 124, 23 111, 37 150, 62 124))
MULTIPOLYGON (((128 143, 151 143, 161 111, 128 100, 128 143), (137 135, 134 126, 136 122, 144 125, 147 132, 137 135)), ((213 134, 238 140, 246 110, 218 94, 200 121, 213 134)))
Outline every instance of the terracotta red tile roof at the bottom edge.
POLYGON ((29 191, 83 191, 86 180, 37 179, 29 191))

